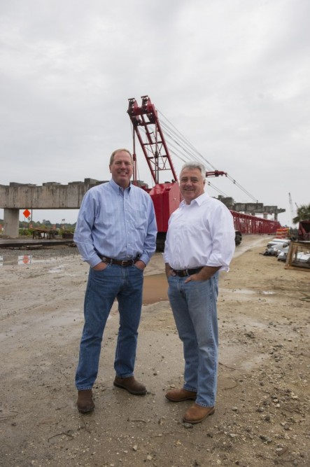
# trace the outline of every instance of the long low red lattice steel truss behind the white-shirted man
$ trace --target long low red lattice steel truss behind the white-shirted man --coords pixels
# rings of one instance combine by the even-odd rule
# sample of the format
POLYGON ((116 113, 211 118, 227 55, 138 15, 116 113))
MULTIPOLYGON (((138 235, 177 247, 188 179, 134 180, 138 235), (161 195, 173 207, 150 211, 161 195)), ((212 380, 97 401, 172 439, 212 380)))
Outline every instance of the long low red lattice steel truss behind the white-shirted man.
POLYGON ((278 221, 270 221, 241 212, 230 211, 234 218, 234 228, 242 234, 270 234, 275 235, 276 230, 281 228, 278 221))

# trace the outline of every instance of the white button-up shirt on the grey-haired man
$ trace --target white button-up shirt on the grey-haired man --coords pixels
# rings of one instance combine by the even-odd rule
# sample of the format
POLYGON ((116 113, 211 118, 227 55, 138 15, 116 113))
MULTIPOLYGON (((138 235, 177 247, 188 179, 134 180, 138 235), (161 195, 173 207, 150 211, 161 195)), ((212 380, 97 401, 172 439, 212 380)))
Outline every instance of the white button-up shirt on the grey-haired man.
POLYGON ((171 214, 164 262, 175 270, 220 266, 228 271, 234 254, 234 221, 229 209, 203 193, 190 204, 181 202, 171 214))

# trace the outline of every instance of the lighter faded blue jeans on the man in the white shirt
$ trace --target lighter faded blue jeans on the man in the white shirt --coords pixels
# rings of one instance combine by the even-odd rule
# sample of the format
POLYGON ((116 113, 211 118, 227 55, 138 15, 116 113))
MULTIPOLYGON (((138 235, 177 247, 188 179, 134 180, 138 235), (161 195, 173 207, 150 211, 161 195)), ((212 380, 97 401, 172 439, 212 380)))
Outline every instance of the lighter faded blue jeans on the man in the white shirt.
POLYGON ((218 375, 218 272, 207 281, 168 278, 168 296, 185 359, 184 389, 196 391, 196 403, 213 407, 218 375))

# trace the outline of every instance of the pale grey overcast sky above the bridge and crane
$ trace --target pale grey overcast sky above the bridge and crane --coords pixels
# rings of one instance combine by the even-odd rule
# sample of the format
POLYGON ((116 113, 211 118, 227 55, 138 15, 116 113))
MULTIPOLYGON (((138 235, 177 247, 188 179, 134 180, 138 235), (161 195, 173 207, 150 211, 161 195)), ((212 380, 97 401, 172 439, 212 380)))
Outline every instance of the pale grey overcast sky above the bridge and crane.
MULTIPOLYGON (((309 0, 1 1, 0 184, 110 179, 111 152, 132 149, 127 99, 149 95, 289 224, 288 193, 294 210, 310 202, 309 18, 309 0)), ((211 183, 252 201, 228 179, 211 183)))

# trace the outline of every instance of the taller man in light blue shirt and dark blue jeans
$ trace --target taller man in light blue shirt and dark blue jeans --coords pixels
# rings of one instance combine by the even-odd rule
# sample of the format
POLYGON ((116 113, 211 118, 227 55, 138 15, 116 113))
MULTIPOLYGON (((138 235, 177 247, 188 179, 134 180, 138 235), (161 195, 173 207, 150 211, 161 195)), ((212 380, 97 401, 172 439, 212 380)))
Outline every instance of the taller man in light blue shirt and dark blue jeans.
POLYGON ((120 328, 113 384, 135 395, 146 394, 146 387, 134 378, 134 362, 143 270, 156 249, 155 212, 150 195, 130 183, 133 160, 127 149, 112 153, 109 168, 111 181, 85 194, 74 233, 78 251, 90 265, 76 370, 77 405, 83 413, 94 410, 92 386, 97 378, 106 320, 115 298, 120 328))

